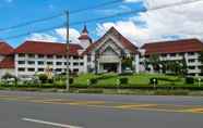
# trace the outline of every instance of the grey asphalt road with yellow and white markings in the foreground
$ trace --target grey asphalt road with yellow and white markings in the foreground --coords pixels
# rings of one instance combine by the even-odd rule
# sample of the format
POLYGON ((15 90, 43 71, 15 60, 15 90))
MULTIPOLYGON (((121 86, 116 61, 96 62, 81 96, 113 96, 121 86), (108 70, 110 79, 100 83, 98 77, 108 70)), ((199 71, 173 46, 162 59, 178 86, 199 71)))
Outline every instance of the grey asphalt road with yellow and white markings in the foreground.
POLYGON ((203 98, 0 91, 0 128, 203 128, 203 98))

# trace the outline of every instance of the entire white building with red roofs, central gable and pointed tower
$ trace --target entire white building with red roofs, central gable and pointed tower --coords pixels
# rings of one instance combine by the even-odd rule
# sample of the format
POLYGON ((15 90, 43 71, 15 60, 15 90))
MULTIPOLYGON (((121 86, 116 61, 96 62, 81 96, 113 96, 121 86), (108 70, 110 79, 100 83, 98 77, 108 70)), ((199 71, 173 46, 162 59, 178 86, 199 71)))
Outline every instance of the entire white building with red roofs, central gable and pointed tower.
MULTIPOLYGON (((154 73, 146 69, 144 61, 157 54, 160 61, 187 61, 188 74, 200 75, 202 66, 199 52, 203 43, 198 39, 145 43, 140 49, 111 27, 101 38, 93 42, 86 26, 79 37, 80 43, 69 44, 69 72, 81 73, 123 73, 123 59, 131 59, 133 73, 154 73)), ((67 46, 59 42, 27 40, 16 49, 0 42, 0 78, 7 74, 16 77, 67 72, 67 46)))

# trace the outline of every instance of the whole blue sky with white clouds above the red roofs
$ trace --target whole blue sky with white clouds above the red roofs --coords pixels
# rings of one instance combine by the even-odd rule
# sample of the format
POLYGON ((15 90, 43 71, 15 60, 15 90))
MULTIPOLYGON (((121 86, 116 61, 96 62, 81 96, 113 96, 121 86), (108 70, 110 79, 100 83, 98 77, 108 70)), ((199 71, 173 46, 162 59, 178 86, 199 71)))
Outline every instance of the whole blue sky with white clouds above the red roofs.
MULTIPOLYGON (((64 25, 65 16, 40 22, 16 29, 2 30, 21 23, 73 12, 115 0, 0 0, 0 39, 13 47, 25 40, 65 41, 65 28, 52 28, 38 33, 36 30, 64 25), (25 36, 16 37, 16 35, 25 36), (13 37, 13 38, 8 38, 13 37)), ((118 29, 132 43, 144 43, 184 38, 203 39, 203 0, 120 0, 114 4, 70 13, 70 40, 79 43, 83 26, 86 25, 93 40, 101 37, 110 27, 118 29), (190 2, 187 4, 179 4, 190 2), (153 10, 159 7, 177 4, 153 10), (86 20, 109 16, 122 12, 136 11, 103 21, 86 20), (74 25, 75 22, 81 22, 74 25)))

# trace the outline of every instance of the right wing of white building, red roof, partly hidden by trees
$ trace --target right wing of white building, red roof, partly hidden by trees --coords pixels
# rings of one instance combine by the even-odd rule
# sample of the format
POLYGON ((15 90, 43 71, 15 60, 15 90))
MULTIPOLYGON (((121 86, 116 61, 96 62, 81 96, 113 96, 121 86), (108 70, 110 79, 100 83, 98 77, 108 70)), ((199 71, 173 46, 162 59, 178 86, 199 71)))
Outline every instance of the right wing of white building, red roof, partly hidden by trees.
MULTIPOLYGON (((201 51, 203 51, 203 43, 198 39, 145 43, 141 48, 140 68, 142 68, 142 72, 146 71, 143 63, 153 54, 157 54, 160 61, 181 61, 184 57, 188 66, 188 75, 199 76, 202 66, 199 61, 199 52, 201 51)), ((154 72, 152 66, 150 67, 150 72, 154 72)))

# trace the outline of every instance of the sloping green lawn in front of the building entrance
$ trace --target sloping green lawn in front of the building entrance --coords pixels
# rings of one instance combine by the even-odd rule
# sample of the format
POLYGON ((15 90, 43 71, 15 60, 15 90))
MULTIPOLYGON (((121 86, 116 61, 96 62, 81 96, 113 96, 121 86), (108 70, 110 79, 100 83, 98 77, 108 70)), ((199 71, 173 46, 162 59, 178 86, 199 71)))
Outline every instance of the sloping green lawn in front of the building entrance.
POLYGON ((117 74, 104 74, 104 75, 94 75, 85 74, 80 75, 74 78, 74 85, 87 85, 87 79, 97 78, 97 86, 116 86, 120 77, 127 77, 129 79, 129 85, 132 86, 148 86, 151 78, 158 78, 158 86, 187 86, 184 79, 178 76, 160 75, 160 74, 134 74, 128 76, 119 76, 117 74))

